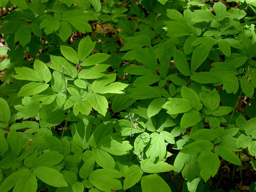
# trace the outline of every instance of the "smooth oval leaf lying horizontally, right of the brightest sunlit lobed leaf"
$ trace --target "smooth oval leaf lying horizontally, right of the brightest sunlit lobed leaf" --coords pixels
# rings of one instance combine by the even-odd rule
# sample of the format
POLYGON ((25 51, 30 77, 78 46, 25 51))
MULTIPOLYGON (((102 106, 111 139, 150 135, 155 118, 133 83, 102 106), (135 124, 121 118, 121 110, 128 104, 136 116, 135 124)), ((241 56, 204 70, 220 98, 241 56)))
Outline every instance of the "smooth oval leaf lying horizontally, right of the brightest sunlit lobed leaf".
POLYGON ((196 142, 183 146, 181 152, 187 154, 196 154, 202 153, 203 151, 212 151, 213 148, 214 144, 212 144, 211 142, 206 140, 198 140, 196 142))

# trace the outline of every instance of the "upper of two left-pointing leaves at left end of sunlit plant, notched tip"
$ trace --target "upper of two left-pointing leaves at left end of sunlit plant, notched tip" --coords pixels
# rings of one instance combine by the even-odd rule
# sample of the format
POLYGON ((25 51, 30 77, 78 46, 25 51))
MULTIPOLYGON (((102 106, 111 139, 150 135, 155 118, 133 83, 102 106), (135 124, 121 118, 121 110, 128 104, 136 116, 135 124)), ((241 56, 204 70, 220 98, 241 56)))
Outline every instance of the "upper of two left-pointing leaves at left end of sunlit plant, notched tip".
POLYGON ((42 81, 41 76, 37 71, 23 66, 22 68, 15 68, 17 74, 14 75, 15 79, 28 80, 28 81, 42 81))

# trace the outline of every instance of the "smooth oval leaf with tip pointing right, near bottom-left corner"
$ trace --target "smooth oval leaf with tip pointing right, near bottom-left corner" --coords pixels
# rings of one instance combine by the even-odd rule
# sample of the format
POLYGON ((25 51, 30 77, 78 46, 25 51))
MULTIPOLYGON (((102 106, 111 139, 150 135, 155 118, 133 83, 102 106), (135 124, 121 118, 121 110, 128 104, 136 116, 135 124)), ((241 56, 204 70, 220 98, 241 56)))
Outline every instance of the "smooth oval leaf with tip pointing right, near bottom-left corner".
POLYGON ((33 170, 33 174, 36 175, 42 182, 47 185, 55 186, 55 187, 63 187, 68 186, 66 183, 64 176, 58 172, 56 169, 52 169, 50 167, 37 167, 33 170))

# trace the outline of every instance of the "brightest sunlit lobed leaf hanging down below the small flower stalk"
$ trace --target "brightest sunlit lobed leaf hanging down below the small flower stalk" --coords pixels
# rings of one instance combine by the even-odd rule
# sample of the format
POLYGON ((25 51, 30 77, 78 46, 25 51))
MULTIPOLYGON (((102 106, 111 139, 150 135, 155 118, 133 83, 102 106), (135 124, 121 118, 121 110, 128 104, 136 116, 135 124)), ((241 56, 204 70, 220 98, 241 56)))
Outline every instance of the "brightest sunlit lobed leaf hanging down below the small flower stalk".
POLYGON ((166 143, 164 137, 157 132, 150 135, 151 147, 150 147, 150 159, 153 161, 159 157, 160 160, 166 156, 166 143))

